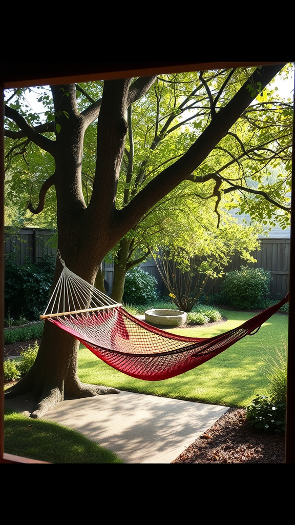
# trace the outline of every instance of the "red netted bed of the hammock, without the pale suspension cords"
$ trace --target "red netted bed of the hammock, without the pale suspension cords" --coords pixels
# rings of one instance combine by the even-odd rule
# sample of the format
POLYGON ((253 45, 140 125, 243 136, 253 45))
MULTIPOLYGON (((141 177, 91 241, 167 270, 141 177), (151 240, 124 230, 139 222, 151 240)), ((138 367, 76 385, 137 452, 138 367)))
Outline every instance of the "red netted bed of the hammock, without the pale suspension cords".
POLYGON ((246 335, 276 313, 288 296, 239 327, 211 338, 189 338, 154 328, 122 306, 69 312, 48 320, 66 330, 114 369, 138 379, 160 381, 194 369, 246 335))

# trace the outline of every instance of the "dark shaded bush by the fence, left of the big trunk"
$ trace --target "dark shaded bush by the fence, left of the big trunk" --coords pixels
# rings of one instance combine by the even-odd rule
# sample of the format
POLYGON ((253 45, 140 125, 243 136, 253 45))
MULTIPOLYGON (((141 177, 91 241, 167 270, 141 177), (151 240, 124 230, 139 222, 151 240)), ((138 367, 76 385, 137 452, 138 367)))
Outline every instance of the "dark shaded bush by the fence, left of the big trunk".
POLYGON ((5 312, 9 324, 19 317, 29 321, 38 319, 49 299, 54 276, 54 258, 47 257, 34 264, 26 260, 23 266, 15 264, 12 257, 5 259, 5 312))

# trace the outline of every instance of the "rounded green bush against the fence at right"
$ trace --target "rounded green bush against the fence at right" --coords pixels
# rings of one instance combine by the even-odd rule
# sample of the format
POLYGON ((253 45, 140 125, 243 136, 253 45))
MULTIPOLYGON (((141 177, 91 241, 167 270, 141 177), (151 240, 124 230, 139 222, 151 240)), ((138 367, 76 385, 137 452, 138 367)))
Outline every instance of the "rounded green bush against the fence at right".
POLYGON ((226 274, 222 291, 226 303, 238 310, 263 308, 262 301, 270 295, 270 271, 241 266, 226 274))

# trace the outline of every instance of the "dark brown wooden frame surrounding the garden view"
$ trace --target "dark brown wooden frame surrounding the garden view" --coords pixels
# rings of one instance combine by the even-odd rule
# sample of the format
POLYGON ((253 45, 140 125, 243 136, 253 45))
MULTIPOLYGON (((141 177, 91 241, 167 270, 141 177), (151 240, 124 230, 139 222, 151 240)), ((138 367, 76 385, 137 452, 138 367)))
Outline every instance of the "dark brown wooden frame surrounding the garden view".
MULTIPOLYGON (((4 121, 3 90, 13 87, 47 85, 49 83, 86 82, 98 79, 129 78, 133 76, 148 76, 168 72, 185 72, 219 68, 246 67, 268 64, 282 64, 285 61, 203 61, 203 62, 0 62, 1 83, 1 119, 4 121)), ((294 137, 294 124, 293 124, 294 137)), ((4 210, 4 133, 1 128, 1 170, 2 184, 0 199, 4 210)), ((294 151, 292 152, 292 181, 294 175, 294 151)), ((291 268, 295 265, 295 215, 292 203, 291 213, 291 268)), ((4 319, 4 211, 0 232, 0 317, 4 319)), ((288 332, 288 387, 287 387, 287 428, 285 463, 294 463, 295 459, 295 354, 290 350, 295 348, 294 297, 295 276, 290 272, 290 302, 289 302, 289 332, 288 332), (293 381, 292 381, 293 378, 293 381)), ((4 342, 3 323, 1 323, 0 337, 4 342)), ((0 360, 0 382, 2 391, 4 386, 3 360, 0 360)), ((0 463, 46 463, 44 461, 23 458, 4 453, 4 394, 0 401, 0 463)))

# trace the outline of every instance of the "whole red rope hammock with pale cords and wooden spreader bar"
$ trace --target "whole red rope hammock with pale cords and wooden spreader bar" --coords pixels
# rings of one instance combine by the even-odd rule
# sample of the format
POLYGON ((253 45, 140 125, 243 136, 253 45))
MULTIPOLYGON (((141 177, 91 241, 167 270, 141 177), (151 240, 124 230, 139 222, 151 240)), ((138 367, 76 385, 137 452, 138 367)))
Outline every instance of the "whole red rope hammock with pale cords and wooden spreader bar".
POLYGON ((41 319, 72 334, 105 363, 138 379, 159 381, 194 369, 246 335, 288 302, 288 295, 239 327, 211 338, 165 332, 133 317, 120 303, 64 268, 41 319))

